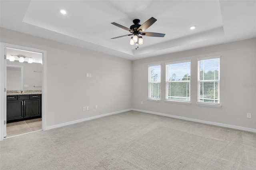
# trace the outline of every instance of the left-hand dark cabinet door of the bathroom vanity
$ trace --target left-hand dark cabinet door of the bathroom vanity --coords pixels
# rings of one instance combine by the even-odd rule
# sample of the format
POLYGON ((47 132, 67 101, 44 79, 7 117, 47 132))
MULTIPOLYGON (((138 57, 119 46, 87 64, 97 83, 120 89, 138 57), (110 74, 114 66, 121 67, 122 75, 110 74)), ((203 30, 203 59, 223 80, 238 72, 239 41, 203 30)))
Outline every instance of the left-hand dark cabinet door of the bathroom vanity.
POLYGON ((23 118, 23 100, 6 102, 7 121, 23 118))

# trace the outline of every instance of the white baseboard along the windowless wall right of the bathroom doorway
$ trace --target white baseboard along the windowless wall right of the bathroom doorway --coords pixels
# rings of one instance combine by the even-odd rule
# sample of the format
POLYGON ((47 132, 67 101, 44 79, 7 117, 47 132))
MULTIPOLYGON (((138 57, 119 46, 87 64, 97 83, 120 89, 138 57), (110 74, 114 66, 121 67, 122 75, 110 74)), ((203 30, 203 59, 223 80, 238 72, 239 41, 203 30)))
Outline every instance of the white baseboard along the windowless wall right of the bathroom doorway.
POLYGON ((97 119, 97 118, 100 118, 100 117, 104 117, 104 116, 108 116, 108 115, 114 115, 114 114, 118 114, 118 113, 122 113, 122 112, 127 112, 127 111, 131 111, 131 110, 132 109, 126 109, 126 110, 122 110, 122 111, 116 111, 116 112, 112 112, 112 113, 106 113, 106 114, 103 114, 103 115, 88 117, 88 118, 85 118, 85 119, 79 119, 79 120, 76 120, 76 121, 70 121, 70 122, 66 122, 66 123, 61 123, 61 124, 58 124, 58 125, 52 125, 52 126, 46 127, 46 130, 50 130, 50 129, 53 129, 53 128, 64 127, 64 126, 67 126, 67 125, 72 125, 72 124, 75 124, 75 123, 89 121, 89 120, 92 120, 92 119, 97 119))

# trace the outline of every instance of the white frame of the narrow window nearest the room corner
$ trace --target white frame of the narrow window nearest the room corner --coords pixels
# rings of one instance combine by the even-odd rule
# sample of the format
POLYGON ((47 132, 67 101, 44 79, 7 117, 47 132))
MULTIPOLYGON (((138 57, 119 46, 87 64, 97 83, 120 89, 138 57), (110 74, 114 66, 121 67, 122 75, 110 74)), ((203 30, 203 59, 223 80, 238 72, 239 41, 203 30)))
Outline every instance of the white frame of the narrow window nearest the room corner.
POLYGON ((158 64, 152 64, 152 65, 148 65, 148 100, 149 101, 161 101, 161 64, 158 63, 158 64), (159 98, 153 98, 151 96, 151 84, 152 84, 152 81, 151 81, 151 68, 153 66, 160 66, 160 81, 154 81, 154 83, 160 83, 160 91, 158 92, 158 94, 160 94, 160 97, 159 98))

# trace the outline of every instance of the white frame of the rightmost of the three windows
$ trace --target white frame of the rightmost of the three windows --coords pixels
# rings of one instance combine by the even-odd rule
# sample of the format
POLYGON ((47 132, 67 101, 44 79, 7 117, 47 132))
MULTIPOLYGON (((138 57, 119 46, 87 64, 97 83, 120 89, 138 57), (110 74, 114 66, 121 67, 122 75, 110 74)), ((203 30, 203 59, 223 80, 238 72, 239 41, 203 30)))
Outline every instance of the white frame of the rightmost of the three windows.
MULTIPOLYGON (((217 55, 217 56, 212 56, 212 57, 204 57, 204 58, 198 58, 197 62, 198 62, 198 68, 197 68, 197 103, 196 105, 200 105, 200 106, 210 106, 210 107, 221 107, 220 105, 220 57, 221 55, 217 55), (205 61, 205 60, 210 60, 210 59, 219 59, 218 60, 218 79, 211 79, 211 80, 200 80, 200 62, 201 61, 205 61), (200 83, 204 83, 204 82, 217 82, 218 83, 218 97, 217 97, 217 101, 218 103, 213 103, 213 102, 204 102, 204 101, 200 101, 202 98, 200 98, 200 83)), ((215 70, 214 70, 215 71, 215 70)), ((215 88, 214 88, 215 91, 215 88)), ((215 93, 214 93, 215 95, 215 93)), ((203 98, 204 100, 204 98, 203 98)), ((214 99, 216 100, 216 99, 214 99)))

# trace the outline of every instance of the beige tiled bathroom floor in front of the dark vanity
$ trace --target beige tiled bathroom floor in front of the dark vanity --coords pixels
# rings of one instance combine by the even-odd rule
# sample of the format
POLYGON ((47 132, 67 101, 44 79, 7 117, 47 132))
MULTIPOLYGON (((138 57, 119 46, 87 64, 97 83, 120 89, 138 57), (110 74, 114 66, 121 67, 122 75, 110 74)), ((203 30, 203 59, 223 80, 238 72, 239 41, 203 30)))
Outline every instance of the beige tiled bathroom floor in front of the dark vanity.
POLYGON ((7 123, 6 137, 42 130, 42 118, 7 123))

